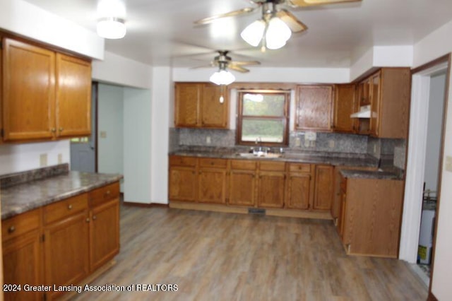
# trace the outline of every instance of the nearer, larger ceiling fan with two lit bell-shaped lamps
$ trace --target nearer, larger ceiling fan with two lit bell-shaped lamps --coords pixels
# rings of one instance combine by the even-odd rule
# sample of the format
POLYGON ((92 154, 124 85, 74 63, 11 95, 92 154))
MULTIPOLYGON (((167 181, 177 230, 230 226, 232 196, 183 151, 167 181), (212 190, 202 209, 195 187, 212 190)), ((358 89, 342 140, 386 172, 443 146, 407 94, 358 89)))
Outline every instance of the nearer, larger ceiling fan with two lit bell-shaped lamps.
POLYGON ((242 38, 254 47, 262 42, 262 51, 268 49, 278 49, 285 45, 292 33, 299 33, 307 30, 307 25, 297 19, 290 11, 281 6, 307 7, 321 6, 326 4, 338 4, 345 2, 357 2, 362 0, 249 0, 256 7, 246 7, 229 13, 222 13, 210 16, 201 20, 196 20, 197 25, 208 24, 219 18, 239 16, 245 13, 252 13, 257 8, 262 8, 262 18, 248 25, 241 33, 242 38))

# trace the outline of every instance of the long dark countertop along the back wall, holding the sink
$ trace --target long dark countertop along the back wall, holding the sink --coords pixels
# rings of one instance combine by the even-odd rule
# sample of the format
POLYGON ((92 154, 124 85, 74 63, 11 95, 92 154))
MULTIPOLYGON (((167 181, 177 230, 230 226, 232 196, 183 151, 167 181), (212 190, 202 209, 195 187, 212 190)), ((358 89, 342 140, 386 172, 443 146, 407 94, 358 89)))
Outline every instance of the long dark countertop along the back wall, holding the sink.
POLYGON ((247 153, 227 151, 174 151, 169 155, 184 155, 203 158, 224 158, 239 160, 273 160, 294 163, 329 164, 334 166, 377 167, 379 160, 367 154, 326 153, 326 152, 287 152, 279 158, 263 158, 247 153), (242 154, 242 155, 241 155, 242 154))

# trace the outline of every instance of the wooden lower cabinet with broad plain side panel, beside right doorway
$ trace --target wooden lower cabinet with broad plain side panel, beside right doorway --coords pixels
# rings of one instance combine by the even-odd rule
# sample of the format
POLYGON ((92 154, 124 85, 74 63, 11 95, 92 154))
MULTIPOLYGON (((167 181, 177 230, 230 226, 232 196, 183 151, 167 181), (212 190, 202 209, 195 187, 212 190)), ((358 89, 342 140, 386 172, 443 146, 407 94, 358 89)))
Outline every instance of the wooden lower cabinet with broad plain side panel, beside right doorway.
POLYGON ((404 181, 343 180, 340 234, 347 254, 398 257, 404 181))

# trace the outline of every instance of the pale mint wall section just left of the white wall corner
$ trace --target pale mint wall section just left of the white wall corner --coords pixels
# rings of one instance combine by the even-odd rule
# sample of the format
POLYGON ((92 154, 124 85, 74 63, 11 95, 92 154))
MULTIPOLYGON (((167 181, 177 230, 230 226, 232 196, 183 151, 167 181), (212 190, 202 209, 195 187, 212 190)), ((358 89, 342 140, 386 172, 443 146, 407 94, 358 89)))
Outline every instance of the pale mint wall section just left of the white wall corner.
POLYGON ((124 88, 124 201, 151 202, 151 113, 150 90, 124 88))

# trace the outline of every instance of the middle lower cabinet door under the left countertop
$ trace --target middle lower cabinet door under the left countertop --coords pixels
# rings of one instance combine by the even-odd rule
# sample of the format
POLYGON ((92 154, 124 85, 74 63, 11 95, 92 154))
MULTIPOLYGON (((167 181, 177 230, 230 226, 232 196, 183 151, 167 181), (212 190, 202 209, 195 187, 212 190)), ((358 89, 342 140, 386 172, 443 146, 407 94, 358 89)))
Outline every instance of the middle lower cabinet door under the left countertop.
MULTIPOLYGON (((44 228, 45 283, 71 285, 89 272, 89 218, 82 211, 44 228)), ((60 292, 50 293, 56 297, 60 292)))

